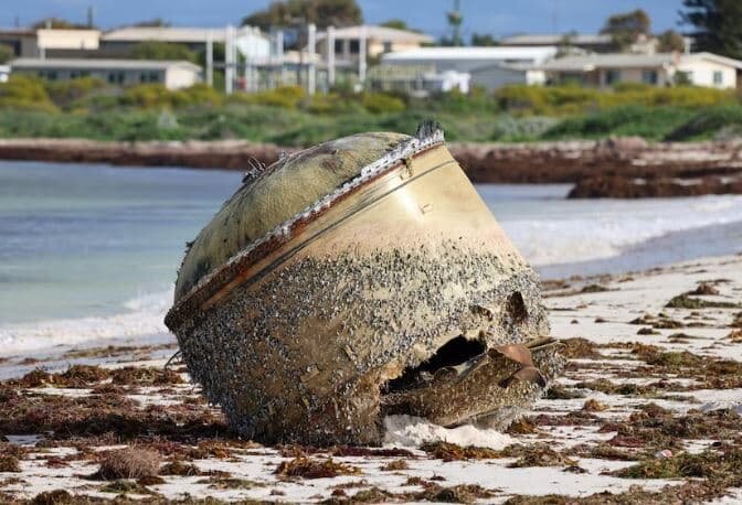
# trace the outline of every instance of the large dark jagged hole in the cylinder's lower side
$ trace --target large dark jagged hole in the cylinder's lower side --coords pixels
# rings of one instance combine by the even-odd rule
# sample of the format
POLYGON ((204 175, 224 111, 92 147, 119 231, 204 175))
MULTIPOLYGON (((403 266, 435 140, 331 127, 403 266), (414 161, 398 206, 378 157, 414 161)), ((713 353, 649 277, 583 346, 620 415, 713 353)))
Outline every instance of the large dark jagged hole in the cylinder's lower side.
POLYGON ((457 336, 446 342, 427 361, 415 367, 406 367, 398 378, 388 380, 381 388, 382 395, 414 388, 424 382, 424 374, 433 375, 436 370, 447 366, 456 366, 466 363, 475 356, 487 351, 481 341, 471 341, 457 336))

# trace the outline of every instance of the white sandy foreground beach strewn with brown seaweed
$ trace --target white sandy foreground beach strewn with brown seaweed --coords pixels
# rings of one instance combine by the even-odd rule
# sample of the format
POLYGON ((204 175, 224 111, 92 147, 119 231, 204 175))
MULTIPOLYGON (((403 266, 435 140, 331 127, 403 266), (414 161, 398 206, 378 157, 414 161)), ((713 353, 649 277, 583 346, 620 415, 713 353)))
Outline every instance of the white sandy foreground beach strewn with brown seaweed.
POLYGON ((507 433, 392 419, 382 448, 262 447, 230 434, 182 364, 165 368, 174 337, 6 353, 0 496, 742 499, 742 256, 544 288, 570 364, 507 433))

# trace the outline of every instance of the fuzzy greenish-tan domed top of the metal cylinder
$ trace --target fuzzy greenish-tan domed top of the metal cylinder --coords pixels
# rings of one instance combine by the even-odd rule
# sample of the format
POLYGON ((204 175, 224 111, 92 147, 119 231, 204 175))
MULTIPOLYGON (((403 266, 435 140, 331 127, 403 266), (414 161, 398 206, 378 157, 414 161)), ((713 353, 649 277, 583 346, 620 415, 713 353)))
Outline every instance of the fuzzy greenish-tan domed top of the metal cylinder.
POLYGON ((409 139, 388 132, 343 137, 246 175, 190 245, 176 282, 176 302, 244 247, 356 179, 364 166, 409 139))

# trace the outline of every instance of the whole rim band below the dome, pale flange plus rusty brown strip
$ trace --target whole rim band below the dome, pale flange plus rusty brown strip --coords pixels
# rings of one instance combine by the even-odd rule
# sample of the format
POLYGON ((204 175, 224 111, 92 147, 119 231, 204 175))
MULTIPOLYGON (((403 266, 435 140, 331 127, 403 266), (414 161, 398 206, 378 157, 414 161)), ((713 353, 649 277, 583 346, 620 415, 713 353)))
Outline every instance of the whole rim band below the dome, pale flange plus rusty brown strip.
MULTIPOLYGON (((188 293, 178 300, 178 302, 168 311, 165 318, 166 325, 174 331, 182 323, 191 319, 194 314, 200 312, 200 309, 210 302, 214 296, 232 288, 240 286, 248 279, 257 279, 263 277, 268 271, 272 271, 278 264, 285 261, 293 254, 300 250, 307 243, 298 245, 286 255, 283 255, 277 261, 272 262, 266 268, 256 271, 251 271, 251 268, 261 259, 276 251, 280 247, 288 244, 297 235, 299 235, 309 223, 316 221, 325 215, 330 208, 348 197, 354 195, 369 187, 370 184, 378 182, 386 175, 406 169, 406 162, 416 158, 424 152, 442 146, 444 143, 443 130, 437 123, 423 122, 415 137, 400 143, 394 150, 370 163, 360 171, 360 175, 346 182, 335 192, 326 195, 312 205, 305 208, 303 212, 296 214, 292 218, 276 226, 274 229, 265 234, 263 237, 252 241, 247 247, 240 250, 232 256, 224 265, 220 266, 209 275, 204 276, 199 282, 191 288, 188 293)), ((447 162, 453 163, 455 161, 447 162)), ((400 180, 391 191, 396 191, 412 180, 415 180, 432 170, 441 166, 433 166, 415 176, 402 181, 400 180)), ((390 192, 391 192, 390 191, 390 192)), ((390 192, 379 196, 383 197, 390 192)), ((377 198, 363 201, 354 212, 368 207, 377 198)), ((348 216, 346 216, 348 217, 348 216)), ((337 223, 336 223, 337 224, 337 223)))

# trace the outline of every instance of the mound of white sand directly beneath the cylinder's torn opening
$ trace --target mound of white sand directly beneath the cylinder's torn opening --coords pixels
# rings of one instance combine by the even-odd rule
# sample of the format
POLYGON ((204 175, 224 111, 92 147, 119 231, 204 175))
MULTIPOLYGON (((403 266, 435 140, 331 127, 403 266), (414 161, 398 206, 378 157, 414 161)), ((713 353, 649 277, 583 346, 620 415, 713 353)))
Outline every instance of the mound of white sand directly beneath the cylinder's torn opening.
POLYGON ((471 425, 444 428, 415 416, 386 416, 384 418, 384 445, 417 448, 426 442, 448 442, 462 447, 504 449, 516 440, 490 428, 471 425))

